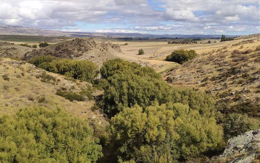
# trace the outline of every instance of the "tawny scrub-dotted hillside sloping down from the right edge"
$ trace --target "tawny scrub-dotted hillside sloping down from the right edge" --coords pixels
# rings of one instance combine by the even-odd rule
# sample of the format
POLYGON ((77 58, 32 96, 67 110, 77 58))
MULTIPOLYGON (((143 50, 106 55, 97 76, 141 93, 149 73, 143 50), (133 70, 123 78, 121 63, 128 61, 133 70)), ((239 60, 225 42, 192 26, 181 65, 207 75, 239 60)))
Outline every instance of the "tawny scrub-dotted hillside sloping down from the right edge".
MULTIPOLYGON (((203 53, 168 71, 164 79, 172 85, 202 89, 212 94, 223 113, 229 112, 225 110, 230 108, 229 106, 243 105, 243 103, 248 109, 254 107, 259 111, 259 45, 258 39, 243 40, 203 53)), ((239 109, 235 112, 244 113, 248 110, 239 109)), ((260 116, 259 112, 251 112, 251 114, 260 116)))

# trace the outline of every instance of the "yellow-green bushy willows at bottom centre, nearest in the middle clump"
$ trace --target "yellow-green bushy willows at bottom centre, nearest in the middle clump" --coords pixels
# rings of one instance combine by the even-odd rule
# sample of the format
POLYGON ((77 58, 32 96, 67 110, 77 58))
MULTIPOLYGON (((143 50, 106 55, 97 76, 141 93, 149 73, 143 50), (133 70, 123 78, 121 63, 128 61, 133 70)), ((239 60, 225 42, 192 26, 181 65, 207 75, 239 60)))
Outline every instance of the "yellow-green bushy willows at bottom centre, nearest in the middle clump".
POLYGON ((168 163, 216 149, 223 131, 212 116, 168 103, 123 109, 111 118, 110 134, 121 160, 168 163))

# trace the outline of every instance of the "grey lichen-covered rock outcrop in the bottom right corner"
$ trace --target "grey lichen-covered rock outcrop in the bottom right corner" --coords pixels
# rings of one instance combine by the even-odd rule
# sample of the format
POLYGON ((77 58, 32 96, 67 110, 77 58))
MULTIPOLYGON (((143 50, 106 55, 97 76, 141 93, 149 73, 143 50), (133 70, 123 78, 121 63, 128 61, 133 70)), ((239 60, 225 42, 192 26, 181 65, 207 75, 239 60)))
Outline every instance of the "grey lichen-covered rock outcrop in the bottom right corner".
POLYGON ((228 140, 220 158, 231 158, 228 163, 251 163, 260 158, 260 129, 248 131, 228 140))

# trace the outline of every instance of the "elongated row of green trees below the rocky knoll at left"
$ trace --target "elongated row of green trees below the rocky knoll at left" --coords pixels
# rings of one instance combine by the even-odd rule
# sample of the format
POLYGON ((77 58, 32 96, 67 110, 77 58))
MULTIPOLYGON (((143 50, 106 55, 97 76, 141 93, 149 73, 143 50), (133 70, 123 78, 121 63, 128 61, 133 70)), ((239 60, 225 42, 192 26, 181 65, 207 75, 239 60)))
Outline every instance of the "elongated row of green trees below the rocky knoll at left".
POLYGON ((59 73, 82 81, 93 82, 98 75, 98 66, 88 60, 59 59, 53 56, 39 56, 29 63, 49 72, 59 73))

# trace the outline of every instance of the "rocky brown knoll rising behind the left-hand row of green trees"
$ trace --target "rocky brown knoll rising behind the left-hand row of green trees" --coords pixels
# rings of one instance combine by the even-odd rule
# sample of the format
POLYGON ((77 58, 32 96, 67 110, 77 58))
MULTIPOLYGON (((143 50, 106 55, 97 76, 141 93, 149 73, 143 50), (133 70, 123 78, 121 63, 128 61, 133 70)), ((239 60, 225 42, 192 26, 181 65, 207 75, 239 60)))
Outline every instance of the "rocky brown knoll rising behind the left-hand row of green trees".
POLYGON ((118 44, 105 42, 98 44, 93 38, 75 38, 27 52, 23 59, 29 60, 39 55, 52 55, 60 58, 87 59, 101 66, 104 61, 116 58, 119 54, 122 55, 122 51, 118 44))

